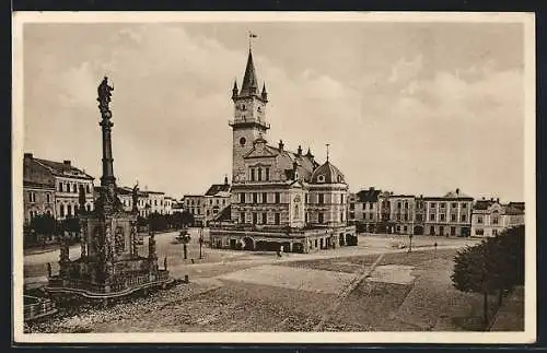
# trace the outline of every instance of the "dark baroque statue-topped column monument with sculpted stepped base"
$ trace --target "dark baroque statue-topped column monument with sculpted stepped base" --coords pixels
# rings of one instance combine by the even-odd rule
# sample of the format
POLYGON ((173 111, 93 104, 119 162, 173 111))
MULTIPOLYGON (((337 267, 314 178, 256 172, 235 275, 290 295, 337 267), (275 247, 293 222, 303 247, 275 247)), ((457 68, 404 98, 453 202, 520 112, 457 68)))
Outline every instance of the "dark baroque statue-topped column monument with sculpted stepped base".
MULTIPOLYGON (((165 287, 172 282, 166 269, 158 267, 155 239, 149 238, 149 254, 139 256, 137 215, 133 203, 124 211, 116 191, 112 154, 112 91, 107 78, 98 85, 98 109, 103 132, 103 176, 101 191, 93 211, 80 204, 81 256, 70 260, 69 244, 61 239, 59 274, 50 275, 46 291, 51 295, 83 296, 91 299, 121 297, 137 291, 165 287)), ((83 190, 80 190, 82 195, 83 190)), ((138 189, 133 189, 133 198, 138 189)), ((81 198, 82 199, 82 198, 81 198)), ((85 200, 82 199, 84 202, 85 200)))

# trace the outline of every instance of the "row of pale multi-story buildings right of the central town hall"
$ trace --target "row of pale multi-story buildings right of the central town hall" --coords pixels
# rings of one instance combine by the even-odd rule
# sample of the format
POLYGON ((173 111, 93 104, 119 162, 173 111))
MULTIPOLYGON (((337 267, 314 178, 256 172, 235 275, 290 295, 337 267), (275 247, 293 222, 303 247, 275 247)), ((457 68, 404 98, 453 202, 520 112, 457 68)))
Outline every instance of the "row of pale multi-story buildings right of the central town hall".
POLYGON ((459 189, 443 197, 423 197, 369 188, 349 196, 348 219, 363 233, 496 236, 524 224, 524 202, 474 200, 459 189))

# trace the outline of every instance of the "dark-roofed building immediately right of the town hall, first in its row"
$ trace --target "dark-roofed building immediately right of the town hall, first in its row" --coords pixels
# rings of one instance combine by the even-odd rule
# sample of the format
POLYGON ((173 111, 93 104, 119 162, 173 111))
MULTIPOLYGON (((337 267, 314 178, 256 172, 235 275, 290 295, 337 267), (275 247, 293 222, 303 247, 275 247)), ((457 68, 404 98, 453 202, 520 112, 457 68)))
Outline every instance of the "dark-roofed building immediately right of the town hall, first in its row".
POLYGON ((349 196, 349 221, 354 221, 357 228, 365 233, 376 232, 380 208, 379 197, 382 191, 370 187, 349 196))

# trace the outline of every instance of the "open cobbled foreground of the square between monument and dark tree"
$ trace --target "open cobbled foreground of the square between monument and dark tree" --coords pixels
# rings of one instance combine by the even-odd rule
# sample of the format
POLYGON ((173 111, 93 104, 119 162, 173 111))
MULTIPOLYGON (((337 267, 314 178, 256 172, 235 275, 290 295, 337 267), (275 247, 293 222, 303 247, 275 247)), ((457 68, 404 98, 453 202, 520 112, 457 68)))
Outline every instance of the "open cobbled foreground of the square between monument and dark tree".
MULTIPOLYGON (((158 239, 160 254, 168 256, 179 246, 171 245, 168 236, 158 239)), ((371 239, 361 237, 358 247, 280 259, 271 254, 214 250, 214 261, 173 261, 172 273, 189 274, 189 284, 108 308, 61 310, 48 321, 26 327, 26 332, 312 331, 319 323, 324 331, 463 329, 452 319, 469 316, 480 305, 480 298, 450 291, 452 258, 466 242, 450 239, 433 251, 423 240, 420 251, 408 254, 394 246, 391 237, 371 239), (340 301, 348 281, 359 271, 366 272, 381 254, 377 264, 383 268, 370 273, 372 280, 359 281, 340 301), (405 281, 393 272, 400 267, 405 281), (310 278, 299 280, 303 273, 310 278), (266 274, 267 280, 259 279, 266 274), (325 316, 327 310, 333 313, 325 316), (445 319, 439 319, 444 313, 445 319)))

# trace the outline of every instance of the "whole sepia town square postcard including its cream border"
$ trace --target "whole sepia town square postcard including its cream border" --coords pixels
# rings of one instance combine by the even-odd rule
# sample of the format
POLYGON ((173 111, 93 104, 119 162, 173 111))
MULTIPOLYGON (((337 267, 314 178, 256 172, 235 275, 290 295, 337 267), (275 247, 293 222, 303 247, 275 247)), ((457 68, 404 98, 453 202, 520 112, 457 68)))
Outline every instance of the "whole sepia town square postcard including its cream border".
POLYGON ((534 27, 15 12, 15 342, 533 343, 534 27))

